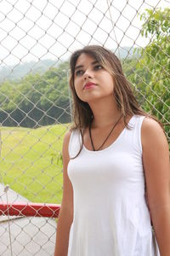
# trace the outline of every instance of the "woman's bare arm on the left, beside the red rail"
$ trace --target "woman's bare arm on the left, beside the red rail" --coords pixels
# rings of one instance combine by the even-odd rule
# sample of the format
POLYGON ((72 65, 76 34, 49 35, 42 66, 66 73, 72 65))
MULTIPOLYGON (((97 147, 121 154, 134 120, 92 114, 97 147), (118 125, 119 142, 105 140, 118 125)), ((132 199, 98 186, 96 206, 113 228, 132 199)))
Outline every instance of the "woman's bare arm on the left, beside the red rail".
POLYGON ((71 132, 67 132, 63 143, 63 199, 59 211, 54 256, 67 255, 69 232, 73 219, 73 190, 67 174, 67 166, 70 160, 68 153, 70 137, 71 132))

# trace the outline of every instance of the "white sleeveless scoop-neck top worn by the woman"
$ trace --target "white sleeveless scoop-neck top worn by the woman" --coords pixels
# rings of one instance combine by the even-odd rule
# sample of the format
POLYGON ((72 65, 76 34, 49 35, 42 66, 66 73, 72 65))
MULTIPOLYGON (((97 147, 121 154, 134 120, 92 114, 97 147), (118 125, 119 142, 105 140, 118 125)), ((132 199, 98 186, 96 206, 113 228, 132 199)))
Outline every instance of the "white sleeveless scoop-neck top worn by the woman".
MULTIPOLYGON (((160 256, 144 196, 141 125, 133 115, 108 148, 81 153, 68 164, 74 215, 68 256, 160 256)), ((73 158, 82 143, 71 132, 73 158)))

